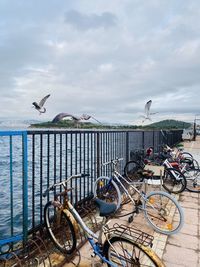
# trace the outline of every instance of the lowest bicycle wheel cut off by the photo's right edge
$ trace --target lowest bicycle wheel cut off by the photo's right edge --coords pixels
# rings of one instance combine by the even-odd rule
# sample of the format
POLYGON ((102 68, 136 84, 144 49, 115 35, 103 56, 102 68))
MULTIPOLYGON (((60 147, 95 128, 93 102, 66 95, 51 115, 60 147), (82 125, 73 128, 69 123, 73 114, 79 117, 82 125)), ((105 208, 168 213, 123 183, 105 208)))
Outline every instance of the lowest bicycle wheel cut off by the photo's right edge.
POLYGON ((187 190, 190 192, 200 192, 200 171, 189 169, 185 173, 187 180, 187 190))

